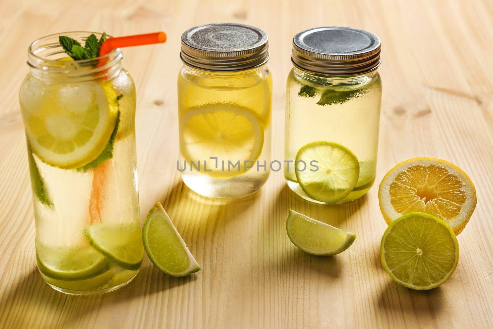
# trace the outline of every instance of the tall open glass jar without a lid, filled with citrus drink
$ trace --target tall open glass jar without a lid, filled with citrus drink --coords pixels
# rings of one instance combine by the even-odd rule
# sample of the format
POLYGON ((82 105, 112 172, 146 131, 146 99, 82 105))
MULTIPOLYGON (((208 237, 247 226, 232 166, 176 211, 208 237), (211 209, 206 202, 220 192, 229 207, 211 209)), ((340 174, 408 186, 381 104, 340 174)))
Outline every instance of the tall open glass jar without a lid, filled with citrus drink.
MULTIPOLYGON (((31 44, 20 106, 28 148, 37 267, 54 289, 94 294, 128 284, 143 247, 135 85, 120 49, 73 61, 59 36, 31 44)), ((98 38, 101 34, 94 33, 98 38)))

